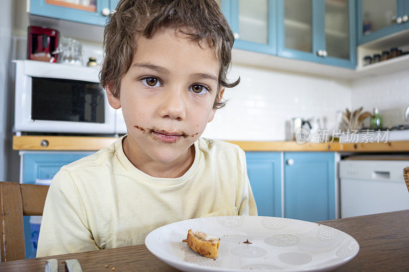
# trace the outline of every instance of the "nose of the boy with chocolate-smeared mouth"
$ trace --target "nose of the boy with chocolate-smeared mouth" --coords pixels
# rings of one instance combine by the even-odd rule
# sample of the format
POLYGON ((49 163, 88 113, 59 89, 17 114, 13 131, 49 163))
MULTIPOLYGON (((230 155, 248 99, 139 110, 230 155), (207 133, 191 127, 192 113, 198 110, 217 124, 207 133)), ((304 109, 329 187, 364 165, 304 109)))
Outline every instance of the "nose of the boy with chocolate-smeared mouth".
POLYGON ((178 121, 185 119, 185 97, 182 92, 169 91, 168 95, 163 97, 162 106, 159 109, 159 115, 163 118, 171 118, 178 121))

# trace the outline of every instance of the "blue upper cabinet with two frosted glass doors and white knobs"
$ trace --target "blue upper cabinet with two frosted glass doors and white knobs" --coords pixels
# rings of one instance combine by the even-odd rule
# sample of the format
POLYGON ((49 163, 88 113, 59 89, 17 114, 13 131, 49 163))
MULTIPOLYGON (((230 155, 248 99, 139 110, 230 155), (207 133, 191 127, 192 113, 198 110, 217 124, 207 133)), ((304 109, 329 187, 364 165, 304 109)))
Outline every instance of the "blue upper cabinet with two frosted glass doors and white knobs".
POLYGON ((356 68, 353 0, 278 0, 277 55, 356 68))

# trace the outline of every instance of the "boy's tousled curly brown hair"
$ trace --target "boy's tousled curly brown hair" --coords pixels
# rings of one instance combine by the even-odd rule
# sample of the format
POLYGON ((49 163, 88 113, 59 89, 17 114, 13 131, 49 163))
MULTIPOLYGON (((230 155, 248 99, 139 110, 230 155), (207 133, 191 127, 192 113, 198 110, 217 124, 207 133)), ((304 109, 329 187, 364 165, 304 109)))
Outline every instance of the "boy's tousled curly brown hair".
POLYGON ((227 72, 232 59, 233 32, 214 0, 121 0, 104 30, 104 62, 100 82, 106 88, 113 82, 113 96, 119 97, 121 78, 129 70, 137 44, 137 35, 151 38, 163 27, 189 35, 189 39, 207 41, 220 61, 218 93, 213 108, 225 105, 219 101, 220 86, 234 87, 240 82, 229 83, 227 72))

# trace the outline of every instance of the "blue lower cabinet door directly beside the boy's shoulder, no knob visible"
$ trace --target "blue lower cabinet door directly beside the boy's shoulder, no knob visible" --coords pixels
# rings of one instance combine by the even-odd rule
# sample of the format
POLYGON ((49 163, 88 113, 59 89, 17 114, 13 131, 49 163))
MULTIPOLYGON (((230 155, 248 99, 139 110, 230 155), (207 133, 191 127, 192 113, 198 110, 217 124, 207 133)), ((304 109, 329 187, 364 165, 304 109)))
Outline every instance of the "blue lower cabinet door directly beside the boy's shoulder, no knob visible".
POLYGON ((247 175, 258 215, 281 217, 280 152, 246 152, 247 175))

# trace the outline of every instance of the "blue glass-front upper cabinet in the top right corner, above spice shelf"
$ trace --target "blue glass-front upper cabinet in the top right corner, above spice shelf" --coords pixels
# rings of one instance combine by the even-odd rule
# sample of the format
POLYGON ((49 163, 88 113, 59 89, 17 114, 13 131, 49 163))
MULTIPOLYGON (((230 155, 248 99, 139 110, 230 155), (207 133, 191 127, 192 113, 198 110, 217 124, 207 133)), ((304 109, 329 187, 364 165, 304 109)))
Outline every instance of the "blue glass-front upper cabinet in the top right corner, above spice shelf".
POLYGON ((409 0, 358 0, 357 44, 409 29, 409 0))

